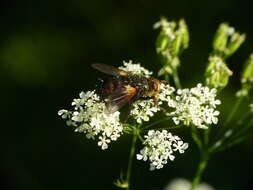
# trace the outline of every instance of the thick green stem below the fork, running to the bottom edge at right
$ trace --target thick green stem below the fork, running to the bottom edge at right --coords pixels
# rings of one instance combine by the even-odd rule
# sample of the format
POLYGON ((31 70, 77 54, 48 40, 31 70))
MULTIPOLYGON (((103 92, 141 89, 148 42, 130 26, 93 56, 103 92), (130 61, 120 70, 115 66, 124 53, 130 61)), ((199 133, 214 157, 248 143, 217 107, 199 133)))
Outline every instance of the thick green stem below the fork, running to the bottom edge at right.
POLYGON ((207 155, 206 156, 202 155, 201 161, 198 165, 197 172, 195 174, 195 177, 192 180, 191 190, 194 190, 196 188, 196 186, 200 183, 203 172, 206 169, 207 163, 208 163, 207 155))

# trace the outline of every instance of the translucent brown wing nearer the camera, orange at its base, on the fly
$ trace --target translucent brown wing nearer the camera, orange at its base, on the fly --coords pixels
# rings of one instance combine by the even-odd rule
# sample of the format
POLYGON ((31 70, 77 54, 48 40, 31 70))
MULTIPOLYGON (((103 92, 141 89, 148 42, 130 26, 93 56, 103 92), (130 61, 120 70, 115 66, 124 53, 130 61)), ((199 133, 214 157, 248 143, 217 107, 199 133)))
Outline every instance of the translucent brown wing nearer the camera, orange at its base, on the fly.
POLYGON ((122 86, 115 90, 113 94, 107 97, 106 107, 110 113, 113 113, 123 107, 136 95, 136 89, 130 85, 122 86))

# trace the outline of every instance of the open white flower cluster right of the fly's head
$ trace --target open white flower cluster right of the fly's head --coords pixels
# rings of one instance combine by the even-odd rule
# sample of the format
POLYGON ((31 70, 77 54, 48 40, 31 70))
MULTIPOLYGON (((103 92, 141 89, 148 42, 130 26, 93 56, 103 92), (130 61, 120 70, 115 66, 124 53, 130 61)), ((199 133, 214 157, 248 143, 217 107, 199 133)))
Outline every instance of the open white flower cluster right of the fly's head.
POLYGON ((207 128, 210 124, 217 124, 219 111, 216 105, 221 102, 216 98, 217 90, 215 88, 198 84, 191 89, 178 89, 176 96, 175 111, 173 121, 176 125, 183 122, 184 125, 195 125, 198 128, 207 128))

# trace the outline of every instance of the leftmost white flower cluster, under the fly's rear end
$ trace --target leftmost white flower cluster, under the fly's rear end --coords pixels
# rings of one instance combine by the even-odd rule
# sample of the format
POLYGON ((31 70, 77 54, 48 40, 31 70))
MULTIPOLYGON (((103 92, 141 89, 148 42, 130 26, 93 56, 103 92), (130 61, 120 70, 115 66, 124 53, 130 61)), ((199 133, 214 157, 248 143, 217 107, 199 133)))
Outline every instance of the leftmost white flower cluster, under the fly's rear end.
POLYGON ((81 92, 72 102, 74 111, 60 110, 58 114, 67 120, 67 125, 76 127, 76 132, 85 133, 87 138, 98 136, 98 145, 107 149, 123 133, 120 112, 108 113, 105 103, 94 91, 81 92))

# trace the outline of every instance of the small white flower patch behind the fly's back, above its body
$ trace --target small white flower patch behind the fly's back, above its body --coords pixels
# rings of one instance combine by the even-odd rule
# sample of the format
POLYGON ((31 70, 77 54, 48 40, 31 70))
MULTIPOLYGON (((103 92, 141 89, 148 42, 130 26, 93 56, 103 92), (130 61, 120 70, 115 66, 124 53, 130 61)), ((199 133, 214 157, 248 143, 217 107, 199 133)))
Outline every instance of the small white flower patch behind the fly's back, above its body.
POLYGON ((122 67, 119 67, 119 69, 122 69, 124 71, 127 71, 132 74, 136 75, 144 75, 145 77, 150 77, 152 75, 152 72, 142 67, 139 63, 133 63, 133 61, 123 61, 122 67))

